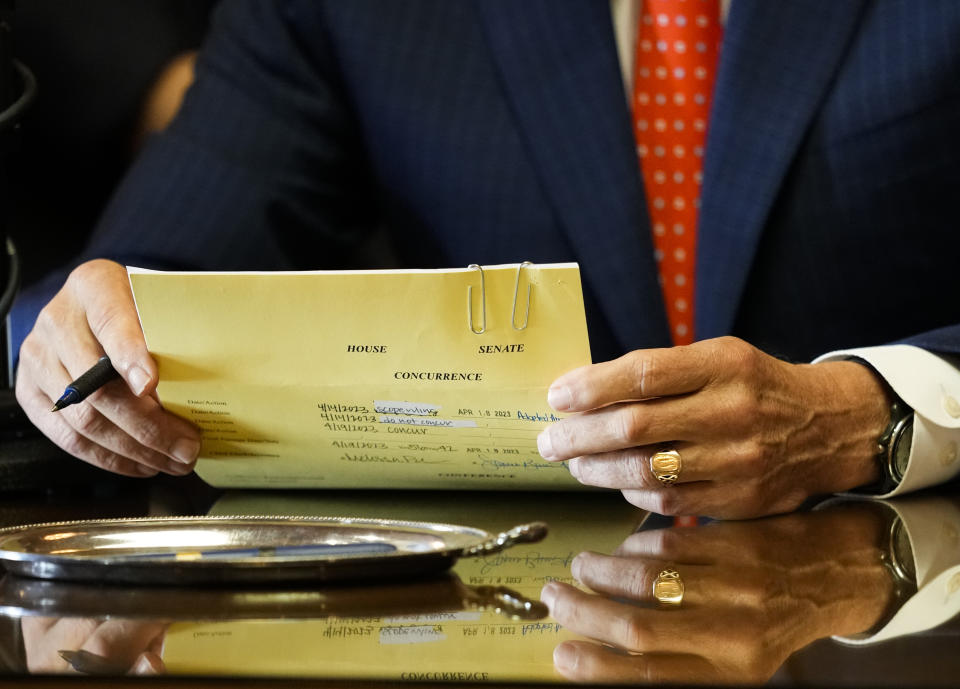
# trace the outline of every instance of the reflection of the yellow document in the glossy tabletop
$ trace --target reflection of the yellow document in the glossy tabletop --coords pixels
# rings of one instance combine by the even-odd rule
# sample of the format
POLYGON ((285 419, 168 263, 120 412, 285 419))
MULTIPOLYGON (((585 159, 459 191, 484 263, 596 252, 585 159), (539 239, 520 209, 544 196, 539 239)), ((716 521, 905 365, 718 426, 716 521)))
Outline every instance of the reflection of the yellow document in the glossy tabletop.
MULTIPOLYGON (((643 512, 619 494, 227 493, 212 514, 353 515, 470 524, 491 532, 545 520, 541 543, 457 562, 467 586, 505 586, 538 599, 550 579, 574 583, 583 550, 610 552, 643 512)), ((374 585, 371 585, 373 587, 374 585)), ((384 582, 389 587, 390 582, 384 582)), ((419 681, 550 681, 553 649, 577 638, 550 618, 511 620, 463 610, 402 617, 177 623, 164 644, 171 674, 295 675, 419 681)))

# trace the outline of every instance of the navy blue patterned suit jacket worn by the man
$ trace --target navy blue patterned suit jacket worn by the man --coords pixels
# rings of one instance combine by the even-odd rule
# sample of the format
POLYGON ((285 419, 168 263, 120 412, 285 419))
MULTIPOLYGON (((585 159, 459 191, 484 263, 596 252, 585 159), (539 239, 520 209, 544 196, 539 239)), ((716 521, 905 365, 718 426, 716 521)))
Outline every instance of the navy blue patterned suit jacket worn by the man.
MULTIPOLYGON (((716 89, 697 337, 960 352, 960 2, 735 0, 716 89)), ((89 256, 343 267, 385 228, 578 261, 595 360, 662 346, 630 127, 606 0, 230 0, 89 256)))

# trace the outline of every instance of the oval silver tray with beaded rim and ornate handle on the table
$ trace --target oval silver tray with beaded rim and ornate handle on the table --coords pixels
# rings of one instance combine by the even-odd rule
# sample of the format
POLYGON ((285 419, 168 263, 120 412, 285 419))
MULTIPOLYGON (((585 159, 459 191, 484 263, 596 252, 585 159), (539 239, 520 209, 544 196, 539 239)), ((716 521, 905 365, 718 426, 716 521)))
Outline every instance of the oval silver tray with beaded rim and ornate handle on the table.
POLYGON ((162 517, 0 529, 14 574, 133 584, 329 582, 420 575, 546 535, 343 517, 162 517))

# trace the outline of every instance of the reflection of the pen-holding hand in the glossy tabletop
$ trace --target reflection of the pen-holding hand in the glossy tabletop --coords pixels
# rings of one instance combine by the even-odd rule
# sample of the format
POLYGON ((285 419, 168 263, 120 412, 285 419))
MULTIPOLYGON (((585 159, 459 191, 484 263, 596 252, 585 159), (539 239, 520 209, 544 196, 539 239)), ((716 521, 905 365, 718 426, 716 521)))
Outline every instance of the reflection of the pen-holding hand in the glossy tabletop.
POLYGON ((25 617, 21 621, 27 669, 33 674, 72 672, 60 651, 82 650, 97 658, 100 674, 158 674, 166 622, 99 621, 25 617))

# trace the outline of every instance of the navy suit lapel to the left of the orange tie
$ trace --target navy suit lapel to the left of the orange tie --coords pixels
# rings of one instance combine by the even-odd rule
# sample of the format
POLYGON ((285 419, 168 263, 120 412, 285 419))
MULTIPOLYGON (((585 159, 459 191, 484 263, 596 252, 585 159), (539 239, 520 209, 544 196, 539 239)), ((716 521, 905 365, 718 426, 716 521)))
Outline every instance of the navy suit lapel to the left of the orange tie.
POLYGON ((622 347, 668 343, 609 3, 476 6, 585 284, 622 347))

